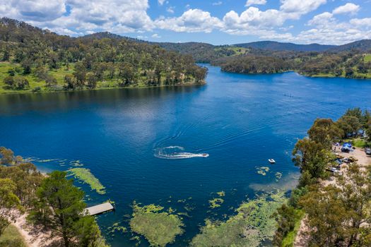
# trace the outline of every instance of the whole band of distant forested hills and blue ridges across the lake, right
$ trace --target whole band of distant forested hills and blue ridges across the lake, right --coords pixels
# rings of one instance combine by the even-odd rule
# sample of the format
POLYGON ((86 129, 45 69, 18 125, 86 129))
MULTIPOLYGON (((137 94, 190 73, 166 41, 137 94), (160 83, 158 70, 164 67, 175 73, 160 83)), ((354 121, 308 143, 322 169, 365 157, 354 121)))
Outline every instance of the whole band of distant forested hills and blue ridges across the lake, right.
POLYGON ((232 73, 296 71, 305 76, 371 78, 371 40, 341 46, 270 41, 230 46, 197 42, 158 44, 232 73))

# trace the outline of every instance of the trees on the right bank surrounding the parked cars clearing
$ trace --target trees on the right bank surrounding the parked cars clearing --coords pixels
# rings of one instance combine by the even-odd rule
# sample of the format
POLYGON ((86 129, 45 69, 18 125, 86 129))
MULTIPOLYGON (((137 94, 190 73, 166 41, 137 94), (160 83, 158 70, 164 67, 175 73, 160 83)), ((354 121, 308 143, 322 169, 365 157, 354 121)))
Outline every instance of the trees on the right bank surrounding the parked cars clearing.
MULTIPOLYGON (((335 183, 324 185, 327 169, 336 167, 332 145, 356 135, 360 129, 370 133, 371 114, 359 108, 348 109, 338 121, 317 119, 298 140, 293 162, 300 168, 297 188, 288 203, 278 212, 275 246, 284 246, 284 239, 305 214, 309 246, 370 246, 371 245, 371 169, 356 162, 337 175, 335 183)), ((370 136, 368 141, 371 141, 370 136)))

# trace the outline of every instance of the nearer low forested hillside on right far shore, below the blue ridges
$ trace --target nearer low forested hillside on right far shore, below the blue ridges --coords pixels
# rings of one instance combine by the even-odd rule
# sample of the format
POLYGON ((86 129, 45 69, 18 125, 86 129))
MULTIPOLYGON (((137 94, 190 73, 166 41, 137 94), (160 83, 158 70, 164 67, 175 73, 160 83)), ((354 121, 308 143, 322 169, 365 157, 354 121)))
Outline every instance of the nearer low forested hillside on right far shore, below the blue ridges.
POLYGON ((213 61, 233 73, 280 73, 296 71, 305 76, 371 78, 371 51, 274 52, 261 56, 247 54, 213 61))

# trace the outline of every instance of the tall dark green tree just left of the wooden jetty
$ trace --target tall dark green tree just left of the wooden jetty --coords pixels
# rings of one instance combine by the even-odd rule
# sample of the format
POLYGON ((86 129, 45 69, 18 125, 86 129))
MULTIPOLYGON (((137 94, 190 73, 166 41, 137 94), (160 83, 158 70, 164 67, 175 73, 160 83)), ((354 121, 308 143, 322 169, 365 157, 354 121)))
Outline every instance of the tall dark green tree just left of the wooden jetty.
POLYGON ((64 246, 69 247, 78 233, 76 224, 83 217, 86 204, 83 191, 66 179, 66 172, 53 171, 42 181, 36 192, 35 208, 29 219, 42 223, 47 229, 61 236, 64 246))

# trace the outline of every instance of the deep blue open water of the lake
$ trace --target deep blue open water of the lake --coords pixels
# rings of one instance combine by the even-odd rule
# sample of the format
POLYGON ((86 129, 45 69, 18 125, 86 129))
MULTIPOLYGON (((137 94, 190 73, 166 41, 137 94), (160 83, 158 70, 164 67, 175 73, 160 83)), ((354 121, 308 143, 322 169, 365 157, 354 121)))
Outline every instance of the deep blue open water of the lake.
MULTIPOLYGON (((88 193, 89 205, 116 203, 116 212, 98 217, 112 246, 136 243, 130 231, 107 231, 115 222, 129 228, 134 200, 177 212, 187 206, 185 234, 173 245, 186 246, 204 219, 224 219, 257 191, 292 188, 298 169, 290 152, 314 119, 371 108, 370 80, 208 68, 205 86, 0 95, 0 145, 39 160, 42 171, 68 169, 76 160, 91 169, 107 194, 76 185, 88 193), (170 146, 184 150, 163 149, 170 146), (164 159, 172 152, 209 157, 164 159), (268 164, 269 158, 277 163, 268 164), (257 174, 262 166, 271 168, 266 176, 257 174), (283 174, 278 182, 276 172, 283 174), (225 203, 211 210, 208 200, 218 191, 225 191, 225 203)), ((147 246, 144 239, 141 246, 147 246)))

